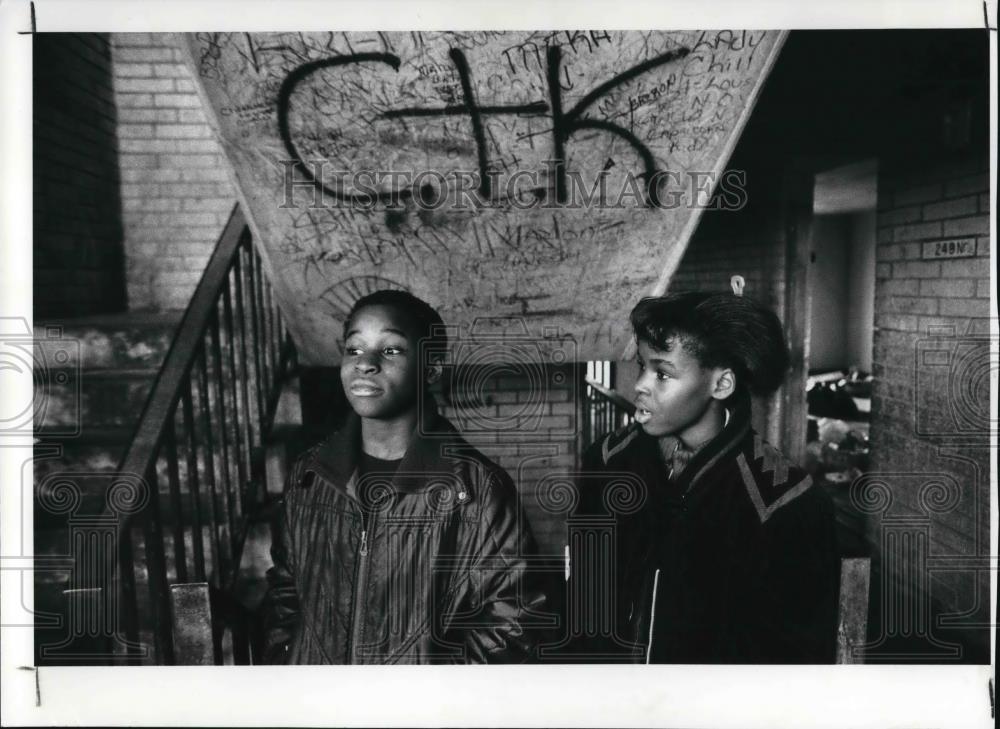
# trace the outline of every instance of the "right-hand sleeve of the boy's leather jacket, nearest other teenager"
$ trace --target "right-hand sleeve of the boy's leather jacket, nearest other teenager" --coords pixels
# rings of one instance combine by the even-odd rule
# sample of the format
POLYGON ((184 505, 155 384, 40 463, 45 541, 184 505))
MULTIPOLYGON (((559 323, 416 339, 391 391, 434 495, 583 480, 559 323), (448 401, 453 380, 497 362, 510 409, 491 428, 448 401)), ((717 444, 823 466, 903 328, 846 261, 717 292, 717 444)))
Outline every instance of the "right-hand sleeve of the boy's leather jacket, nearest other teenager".
POLYGON ((531 564, 538 549, 510 477, 499 469, 490 473, 485 492, 467 593, 478 605, 475 618, 463 621, 464 660, 534 661, 548 638, 548 573, 531 564))

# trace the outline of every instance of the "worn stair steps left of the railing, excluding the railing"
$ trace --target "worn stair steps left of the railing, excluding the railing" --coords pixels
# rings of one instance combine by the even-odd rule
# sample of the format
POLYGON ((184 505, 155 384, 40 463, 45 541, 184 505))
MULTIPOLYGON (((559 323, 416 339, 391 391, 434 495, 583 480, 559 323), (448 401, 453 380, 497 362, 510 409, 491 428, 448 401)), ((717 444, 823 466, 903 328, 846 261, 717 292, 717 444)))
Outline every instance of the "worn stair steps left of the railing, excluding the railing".
POLYGON ((100 515, 182 312, 36 322, 34 512, 38 648, 66 630, 70 517, 100 515), (39 366, 41 365, 41 366, 39 366), (79 498, 75 509, 68 509, 79 498))

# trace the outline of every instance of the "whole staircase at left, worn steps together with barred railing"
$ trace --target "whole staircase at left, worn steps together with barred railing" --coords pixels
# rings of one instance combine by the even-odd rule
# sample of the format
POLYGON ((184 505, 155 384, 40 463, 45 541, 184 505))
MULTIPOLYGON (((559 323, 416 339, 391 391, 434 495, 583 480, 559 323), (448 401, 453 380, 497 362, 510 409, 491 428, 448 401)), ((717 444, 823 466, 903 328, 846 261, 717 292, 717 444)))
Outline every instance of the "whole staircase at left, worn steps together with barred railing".
POLYGON ((182 316, 35 327, 37 665, 251 663, 296 352, 235 207, 182 316))

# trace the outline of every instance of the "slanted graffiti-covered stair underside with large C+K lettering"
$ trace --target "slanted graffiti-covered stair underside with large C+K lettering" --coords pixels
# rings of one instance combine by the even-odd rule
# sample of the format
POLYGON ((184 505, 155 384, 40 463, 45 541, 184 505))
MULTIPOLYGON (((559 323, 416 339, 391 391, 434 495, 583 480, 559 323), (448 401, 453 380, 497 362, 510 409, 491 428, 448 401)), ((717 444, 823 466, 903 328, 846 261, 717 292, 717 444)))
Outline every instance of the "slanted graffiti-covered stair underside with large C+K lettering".
POLYGON ((457 356, 613 359, 661 291, 783 35, 183 36, 304 362, 406 288, 457 356), (650 181, 655 181, 650 184, 650 181), (502 344, 496 344, 502 341, 502 344))

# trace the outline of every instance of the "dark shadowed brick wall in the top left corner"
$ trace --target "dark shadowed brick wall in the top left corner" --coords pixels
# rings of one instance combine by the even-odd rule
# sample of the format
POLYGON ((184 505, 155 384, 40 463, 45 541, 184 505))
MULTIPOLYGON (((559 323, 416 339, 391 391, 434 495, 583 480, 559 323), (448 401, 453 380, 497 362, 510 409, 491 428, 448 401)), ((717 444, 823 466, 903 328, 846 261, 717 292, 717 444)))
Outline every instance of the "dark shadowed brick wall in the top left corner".
POLYGON ((107 34, 39 33, 34 58, 36 317, 125 307, 107 34))

